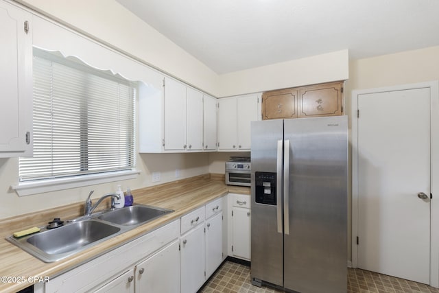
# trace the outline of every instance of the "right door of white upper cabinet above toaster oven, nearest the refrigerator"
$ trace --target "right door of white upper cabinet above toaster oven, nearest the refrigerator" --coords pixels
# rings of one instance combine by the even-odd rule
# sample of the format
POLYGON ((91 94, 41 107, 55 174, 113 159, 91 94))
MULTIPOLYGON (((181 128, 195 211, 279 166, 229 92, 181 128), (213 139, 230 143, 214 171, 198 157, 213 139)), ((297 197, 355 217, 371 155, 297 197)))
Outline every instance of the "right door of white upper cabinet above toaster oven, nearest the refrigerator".
POLYGON ((250 121, 259 120, 258 95, 245 95, 237 98, 237 144, 238 150, 250 150, 250 121))

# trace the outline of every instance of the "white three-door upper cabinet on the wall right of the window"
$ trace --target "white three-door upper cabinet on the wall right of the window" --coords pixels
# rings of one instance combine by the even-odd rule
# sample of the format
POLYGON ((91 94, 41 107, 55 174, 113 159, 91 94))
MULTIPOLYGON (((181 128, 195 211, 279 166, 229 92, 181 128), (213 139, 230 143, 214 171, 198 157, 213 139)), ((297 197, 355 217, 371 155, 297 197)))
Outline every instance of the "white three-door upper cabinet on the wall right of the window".
POLYGON ((160 73, 151 80, 139 85, 139 152, 216 150, 216 99, 160 73))

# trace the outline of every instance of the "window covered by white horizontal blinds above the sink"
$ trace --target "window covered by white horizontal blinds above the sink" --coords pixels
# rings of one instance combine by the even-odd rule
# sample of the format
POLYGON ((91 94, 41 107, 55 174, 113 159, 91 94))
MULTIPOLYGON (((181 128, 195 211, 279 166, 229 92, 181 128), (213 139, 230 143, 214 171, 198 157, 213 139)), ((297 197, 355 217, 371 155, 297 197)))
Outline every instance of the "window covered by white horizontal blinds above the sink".
POLYGON ((20 181, 129 170, 135 87, 117 75, 34 49, 34 155, 20 181))

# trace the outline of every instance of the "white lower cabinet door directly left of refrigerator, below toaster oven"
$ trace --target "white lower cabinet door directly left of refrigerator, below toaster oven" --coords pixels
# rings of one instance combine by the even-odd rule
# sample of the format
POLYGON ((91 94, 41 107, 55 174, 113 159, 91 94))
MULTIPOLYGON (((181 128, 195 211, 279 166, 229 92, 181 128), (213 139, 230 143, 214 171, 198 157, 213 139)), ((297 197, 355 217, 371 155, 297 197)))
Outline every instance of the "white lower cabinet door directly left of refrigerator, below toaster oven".
POLYGON ((233 256, 250 260, 250 209, 233 207, 233 256))

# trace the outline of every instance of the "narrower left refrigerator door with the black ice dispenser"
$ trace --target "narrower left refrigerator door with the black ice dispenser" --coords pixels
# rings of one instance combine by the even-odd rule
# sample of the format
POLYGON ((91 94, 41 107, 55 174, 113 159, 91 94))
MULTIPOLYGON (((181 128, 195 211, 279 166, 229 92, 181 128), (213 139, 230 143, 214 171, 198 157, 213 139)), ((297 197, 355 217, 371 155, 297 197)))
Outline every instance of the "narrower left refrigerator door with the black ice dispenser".
MULTIPOLYGON (((282 234, 282 169, 283 120, 252 121, 252 269, 251 277, 283 285, 283 234, 282 234), (278 143, 281 141, 281 143, 278 143), (281 150, 278 150, 278 145, 281 150), (280 164, 280 165, 279 165, 280 164), (276 182, 276 200, 257 203, 255 173, 258 184, 265 187, 266 196, 274 196, 273 182, 276 182), (261 180, 264 181, 261 183, 261 180), (279 184, 280 182, 280 184, 279 184), (280 214, 279 214, 280 213, 280 214)), ((259 187, 259 192, 261 192, 259 187)), ((261 195, 263 196, 263 195, 261 195)), ((260 197, 261 198, 261 197, 260 197)))

